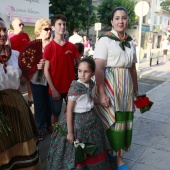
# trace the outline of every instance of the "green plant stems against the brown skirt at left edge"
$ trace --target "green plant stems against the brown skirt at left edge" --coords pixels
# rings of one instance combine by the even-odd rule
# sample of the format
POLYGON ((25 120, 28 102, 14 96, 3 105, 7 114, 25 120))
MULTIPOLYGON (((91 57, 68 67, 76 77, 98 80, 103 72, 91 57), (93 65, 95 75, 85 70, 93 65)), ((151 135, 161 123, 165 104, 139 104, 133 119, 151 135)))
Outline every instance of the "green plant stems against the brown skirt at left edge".
POLYGON ((8 136, 9 132, 11 132, 11 129, 6 123, 6 117, 0 112, 0 134, 8 136))

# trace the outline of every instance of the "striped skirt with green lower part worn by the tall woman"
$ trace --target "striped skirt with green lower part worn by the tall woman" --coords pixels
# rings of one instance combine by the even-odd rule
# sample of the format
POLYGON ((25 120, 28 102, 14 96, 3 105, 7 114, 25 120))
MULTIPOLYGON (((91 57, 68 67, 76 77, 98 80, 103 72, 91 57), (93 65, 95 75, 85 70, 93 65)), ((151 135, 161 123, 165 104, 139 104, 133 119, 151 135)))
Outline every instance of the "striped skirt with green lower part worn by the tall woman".
POLYGON ((113 151, 122 155, 123 150, 129 149, 132 139, 134 91, 130 70, 106 68, 104 86, 110 105, 107 108, 96 105, 95 111, 102 120, 113 151))

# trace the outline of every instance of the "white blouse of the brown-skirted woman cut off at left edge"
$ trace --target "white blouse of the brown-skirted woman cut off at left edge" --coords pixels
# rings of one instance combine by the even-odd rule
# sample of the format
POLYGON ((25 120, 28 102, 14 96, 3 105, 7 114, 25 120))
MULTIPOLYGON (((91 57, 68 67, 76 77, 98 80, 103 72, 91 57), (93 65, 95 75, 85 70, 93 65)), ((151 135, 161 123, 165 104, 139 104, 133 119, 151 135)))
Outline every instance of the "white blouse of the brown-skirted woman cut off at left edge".
POLYGON ((18 89, 20 85, 21 70, 18 66, 19 52, 12 50, 10 59, 7 61, 7 73, 0 63, 0 90, 18 89))

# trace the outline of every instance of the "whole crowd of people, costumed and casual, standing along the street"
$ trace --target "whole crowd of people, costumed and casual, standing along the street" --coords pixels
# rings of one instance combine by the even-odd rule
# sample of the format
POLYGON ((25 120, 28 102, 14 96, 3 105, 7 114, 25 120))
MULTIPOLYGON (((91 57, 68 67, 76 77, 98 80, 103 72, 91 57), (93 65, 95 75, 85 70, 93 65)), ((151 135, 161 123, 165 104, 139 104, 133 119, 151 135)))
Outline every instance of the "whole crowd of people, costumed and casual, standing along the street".
POLYGON ((42 40, 42 59, 28 80, 18 66, 19 53, 30 41, 24 24, 15 18, 14 30, 8 35, 0 20, 2 170, 41 169, 37 145, 46 130, 52 133, 48 170, 109 170, 110 159, 115 160, 116 170, 128 170, 123 152, 131 146, 134 97, 138 95, 136 50, 126 34, 128 12, 123 7, 112 11, 112 29, 95 49, 77 29, 66 41, 66 23, 62 14, 35 23, 36 39, 42 40), (93 58, 88 57, 91 48, 93 58), (28 102, 20 90, 22 83, 28 85, 28 102), (66 109, 61 114, 63 101, 66 109))

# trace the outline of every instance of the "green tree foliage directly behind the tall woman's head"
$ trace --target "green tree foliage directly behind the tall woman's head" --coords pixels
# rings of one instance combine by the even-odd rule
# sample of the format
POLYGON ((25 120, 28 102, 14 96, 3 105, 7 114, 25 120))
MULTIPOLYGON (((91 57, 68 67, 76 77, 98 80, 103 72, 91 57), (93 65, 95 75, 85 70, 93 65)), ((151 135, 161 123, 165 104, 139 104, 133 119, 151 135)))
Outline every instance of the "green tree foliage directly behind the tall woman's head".
POLYGON ((128 11, 128 27, 136 24, 136 16, 134 12, 136 2, 134 0, 102 0, 101 5, 97 7, 98 19, 101 23, 111 26, 112 10, 118 6, 122 6, 128 11))

